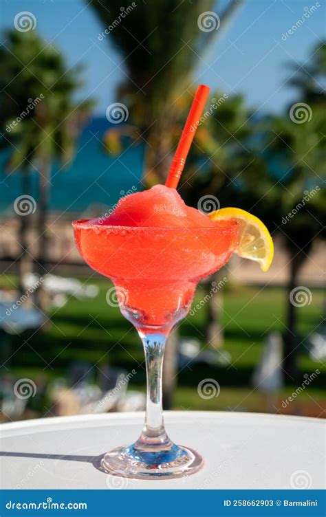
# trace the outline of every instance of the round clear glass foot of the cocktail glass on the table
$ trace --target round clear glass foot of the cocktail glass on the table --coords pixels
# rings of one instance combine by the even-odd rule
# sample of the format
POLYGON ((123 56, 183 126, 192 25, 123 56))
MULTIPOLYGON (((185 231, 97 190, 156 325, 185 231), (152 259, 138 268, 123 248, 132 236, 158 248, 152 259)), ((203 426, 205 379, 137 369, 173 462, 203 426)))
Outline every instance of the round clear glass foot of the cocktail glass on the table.
POLYGON ((113 476, 136 479, 166 479, 190 476, 202 468, 204 461, 195 450, 172 444, 168 450, 140 450, 135 444, 107 452, 102 470, 113 476))

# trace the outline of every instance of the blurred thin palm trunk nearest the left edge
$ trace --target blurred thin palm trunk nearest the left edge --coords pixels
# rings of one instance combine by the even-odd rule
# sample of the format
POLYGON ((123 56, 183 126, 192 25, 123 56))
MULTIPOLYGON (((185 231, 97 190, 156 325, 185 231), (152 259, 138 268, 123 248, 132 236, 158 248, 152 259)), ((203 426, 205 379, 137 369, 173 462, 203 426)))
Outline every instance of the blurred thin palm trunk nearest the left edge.
MULTIPOLYGON (((30 174, 27 170, 24 170, 21 173, 22 178, 22 190, 23 195, 30 195, 30 174)), ((25 287, 23 283, 23 278, 26 274, 32 272, 32 258, 28 253, 28 230, 30 230, 30 214, 19 215, 19 230, 18 230, 18 240, 21 246, 21 252, 18 261, 18 287, 19 294, 23 295, 25 293, 25 287)))

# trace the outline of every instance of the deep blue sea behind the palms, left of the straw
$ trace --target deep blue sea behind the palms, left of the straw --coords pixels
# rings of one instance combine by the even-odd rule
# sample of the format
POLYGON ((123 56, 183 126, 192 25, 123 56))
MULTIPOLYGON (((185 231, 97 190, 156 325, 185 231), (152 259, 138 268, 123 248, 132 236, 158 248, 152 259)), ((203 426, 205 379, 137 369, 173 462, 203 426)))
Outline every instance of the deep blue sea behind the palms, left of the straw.
MULTIPOLYGON (((78 139, 76 155, 67 168, 54 163, 51 173, 50 210, 58 212, 101 213, 127 192, 142 190, 141 183, 144 144, 124 141, 120 155, 109 155, 102 145, 102 137, 109 129, 106 118, 94 118, 85 126, 78 139)), ((8 175, 5 164, 10 150, 0 153, 0 213, 14 215, 14 200, 22 191, 19 170, 8 175)), ((37 203, 37 173, 31 173, 31 191, 37 203)))

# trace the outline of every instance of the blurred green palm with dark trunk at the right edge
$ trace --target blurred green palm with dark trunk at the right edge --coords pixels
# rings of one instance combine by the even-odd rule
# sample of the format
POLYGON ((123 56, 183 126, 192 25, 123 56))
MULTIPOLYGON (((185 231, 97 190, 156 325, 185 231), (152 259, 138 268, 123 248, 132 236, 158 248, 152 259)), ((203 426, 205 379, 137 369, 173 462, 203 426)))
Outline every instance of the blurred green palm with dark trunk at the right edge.
POLYGON ((266 135, 267 159, 270 155, 277 157, 273 166, 279 166, 281 177, 271 175, 269 168, 267 195, 257 199, 255 207, 262 217, 274 223, 290 259, 284 370, 292 379, 298 373, 297 305, 294 299, 298 275, 314 243, 325 238, 326 118, 319 104, 310 105, 310 109, 311 120, 300 124, 286 116, 270 119, 270 131, 266 135))

